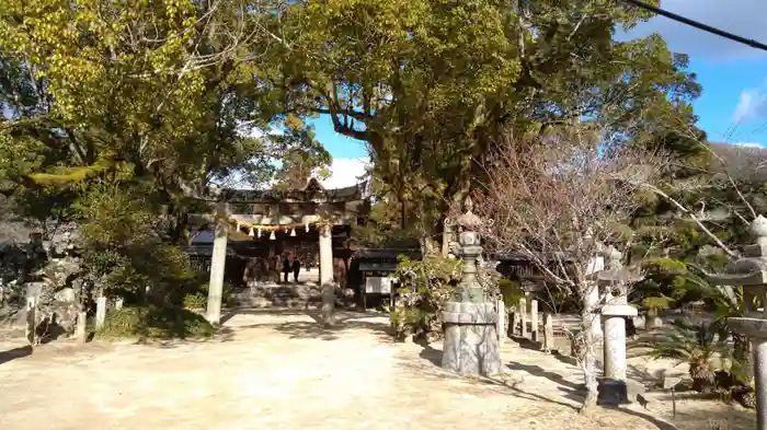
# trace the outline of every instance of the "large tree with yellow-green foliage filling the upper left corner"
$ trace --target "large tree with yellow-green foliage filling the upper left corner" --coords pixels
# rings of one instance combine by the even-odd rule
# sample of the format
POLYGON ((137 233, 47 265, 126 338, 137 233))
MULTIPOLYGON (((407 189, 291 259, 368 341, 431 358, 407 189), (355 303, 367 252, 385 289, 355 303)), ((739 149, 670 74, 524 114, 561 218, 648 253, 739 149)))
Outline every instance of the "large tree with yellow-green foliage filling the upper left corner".
POLYGON ((274 158, 304 143, 249 137, 274 119, 271 93, 254 74, 277 3, 4 2, 7 194, 20 185, 87 188, 119 173, 123 186, 142 183, 149 201, 169 205, 179 241, 184 214, 213 185, 232 174, 270 179, 274 158))

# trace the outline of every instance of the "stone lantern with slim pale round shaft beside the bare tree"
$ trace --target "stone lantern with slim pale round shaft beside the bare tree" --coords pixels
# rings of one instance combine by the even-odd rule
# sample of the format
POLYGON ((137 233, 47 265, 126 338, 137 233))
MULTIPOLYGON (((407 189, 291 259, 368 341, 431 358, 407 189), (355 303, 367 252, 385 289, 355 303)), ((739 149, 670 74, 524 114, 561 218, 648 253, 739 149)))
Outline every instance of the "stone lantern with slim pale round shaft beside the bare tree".
POLYGON ((599 399, 620 404, 634 397, 631 395, 634 390, 628 390, 626 376, 626 318, 637 316, 637 309, 628 303, 628 284, 641 280, 641 277, 622 266, 622 254, 615 247, 608 247, 605 257, 609 262, 607 269, 596 275, 599 290, 607 291, 607 300, 600 311, 605 334, 605 377, 599 381, 599 399))

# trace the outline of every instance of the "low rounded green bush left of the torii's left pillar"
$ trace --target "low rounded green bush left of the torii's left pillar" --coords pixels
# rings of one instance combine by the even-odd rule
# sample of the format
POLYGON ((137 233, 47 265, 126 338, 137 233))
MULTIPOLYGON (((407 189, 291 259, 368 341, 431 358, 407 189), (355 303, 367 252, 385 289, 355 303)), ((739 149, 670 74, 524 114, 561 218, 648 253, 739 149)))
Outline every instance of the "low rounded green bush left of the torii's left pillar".
POLYGON ((205 338, 215 333, 202 315, 170 306, 127 306, 106 314, 101 338, 170 339, 205 338))

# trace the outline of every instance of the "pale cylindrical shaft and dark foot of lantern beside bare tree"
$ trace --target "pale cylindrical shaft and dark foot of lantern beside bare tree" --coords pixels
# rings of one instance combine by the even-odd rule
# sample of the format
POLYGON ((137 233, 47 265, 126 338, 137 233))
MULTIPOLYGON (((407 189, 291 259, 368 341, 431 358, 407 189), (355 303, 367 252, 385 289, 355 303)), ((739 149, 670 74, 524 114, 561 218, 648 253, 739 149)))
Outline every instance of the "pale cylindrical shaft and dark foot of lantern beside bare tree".
POLYGON ((628 304, 608 304, 602 309, 605 377, 599 382, 599 399, 604 403, 632 400, 626 383, 626 318, 633 316, 637 316, 637 309, 628 304))

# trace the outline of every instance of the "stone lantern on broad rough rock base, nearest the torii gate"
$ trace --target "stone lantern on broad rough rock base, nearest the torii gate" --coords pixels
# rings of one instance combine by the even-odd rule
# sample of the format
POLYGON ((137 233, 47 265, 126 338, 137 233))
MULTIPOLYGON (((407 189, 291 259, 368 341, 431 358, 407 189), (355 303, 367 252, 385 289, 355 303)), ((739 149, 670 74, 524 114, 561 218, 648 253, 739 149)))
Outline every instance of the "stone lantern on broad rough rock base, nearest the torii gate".
MULTIPOLYGON (((457 220, 458 254, 463 259, 463 277, 445 305, 443 369, 462 374, 488 375, 501 370, 496 303, 490 301, 477 279, 477 260, 482 254, 478 230, 490 225, 472 212, 467 198, 465 212, 457 220)), ((449 222, 449 221, 448 221, 449 222)))

